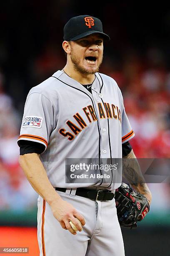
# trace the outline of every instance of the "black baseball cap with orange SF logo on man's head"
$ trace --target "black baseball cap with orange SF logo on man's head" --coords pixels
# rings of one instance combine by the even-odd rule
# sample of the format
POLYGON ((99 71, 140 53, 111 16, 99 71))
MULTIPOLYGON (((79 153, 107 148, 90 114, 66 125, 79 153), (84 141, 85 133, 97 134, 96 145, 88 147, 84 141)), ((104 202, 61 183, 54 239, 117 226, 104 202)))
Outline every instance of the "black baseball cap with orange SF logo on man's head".
POLYGON ((64 26, 66 41, 75 41, 94 33, 101 34, 104 40, 110 40, 110 37, 103 33, 101 20, 89 15, 72 17, 64 26))

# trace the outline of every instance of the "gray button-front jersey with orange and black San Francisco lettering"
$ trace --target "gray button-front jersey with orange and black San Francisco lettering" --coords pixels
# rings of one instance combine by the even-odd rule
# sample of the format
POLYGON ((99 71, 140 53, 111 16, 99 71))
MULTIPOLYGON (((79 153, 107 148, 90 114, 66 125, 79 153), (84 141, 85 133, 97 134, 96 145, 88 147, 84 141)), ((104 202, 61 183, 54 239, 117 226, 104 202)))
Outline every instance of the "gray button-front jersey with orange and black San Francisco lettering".
POLYGON ((96 73, 92 94, 58 70, 33 87, 25 102, 19 140, 42 143, 40 155, 53 187, 120 186, 99 178, 98 183, 65 183, 65 159, 122 158, 122 143, 134 133, 114 79, 96 73))

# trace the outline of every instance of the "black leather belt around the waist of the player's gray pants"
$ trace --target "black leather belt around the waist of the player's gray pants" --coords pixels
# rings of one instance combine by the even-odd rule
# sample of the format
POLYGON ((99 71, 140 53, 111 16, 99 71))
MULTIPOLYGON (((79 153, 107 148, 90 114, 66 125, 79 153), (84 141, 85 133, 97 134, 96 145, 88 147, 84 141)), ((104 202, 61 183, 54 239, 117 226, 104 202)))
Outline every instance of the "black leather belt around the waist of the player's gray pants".
MULTIPOLYGON (((66 188, 61 187, 56 187, 55 190, 66 192, 66 188)), ((81 187, 77 188, 75 195, 99 201, 112 200, 115 197, 115 194, 109 190, 83 189, 81 187)))

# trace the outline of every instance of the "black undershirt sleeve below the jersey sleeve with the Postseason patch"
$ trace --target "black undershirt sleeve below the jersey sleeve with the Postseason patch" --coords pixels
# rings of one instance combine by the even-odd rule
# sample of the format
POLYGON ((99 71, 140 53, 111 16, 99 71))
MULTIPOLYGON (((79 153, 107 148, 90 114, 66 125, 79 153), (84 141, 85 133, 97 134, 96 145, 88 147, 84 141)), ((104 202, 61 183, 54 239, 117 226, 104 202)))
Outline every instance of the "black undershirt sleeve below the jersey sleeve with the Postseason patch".
POLYGON ((32 153, 41 154, 45 151, 45 146, 35 141, 20 140, 18 141, 18 146, 20 147, 21 156, 32 153))

